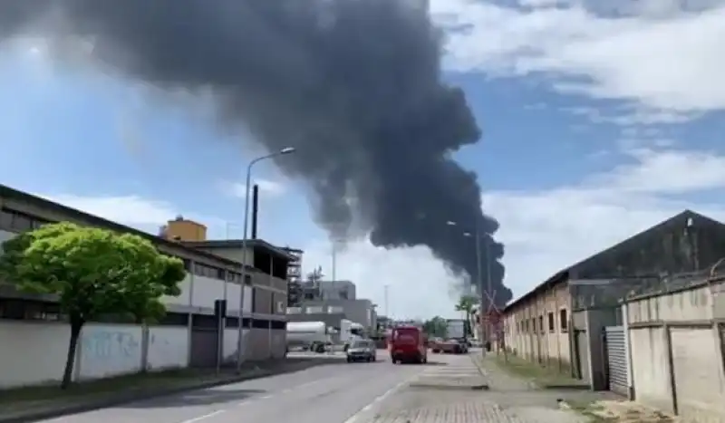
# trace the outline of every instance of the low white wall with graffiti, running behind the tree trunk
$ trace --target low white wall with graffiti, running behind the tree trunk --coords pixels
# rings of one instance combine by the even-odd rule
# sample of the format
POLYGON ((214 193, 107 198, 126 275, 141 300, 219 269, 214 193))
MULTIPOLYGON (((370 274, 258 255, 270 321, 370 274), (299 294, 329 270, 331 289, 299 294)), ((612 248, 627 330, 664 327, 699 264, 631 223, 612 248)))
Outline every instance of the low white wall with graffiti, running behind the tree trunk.
MULTIPOLYGON (((61 380, 70 336, 60 322, 0 321, 0 388, 61 380)), ((188 365, 187 328, 93 323, 83 328, 73 380, 188 365)))

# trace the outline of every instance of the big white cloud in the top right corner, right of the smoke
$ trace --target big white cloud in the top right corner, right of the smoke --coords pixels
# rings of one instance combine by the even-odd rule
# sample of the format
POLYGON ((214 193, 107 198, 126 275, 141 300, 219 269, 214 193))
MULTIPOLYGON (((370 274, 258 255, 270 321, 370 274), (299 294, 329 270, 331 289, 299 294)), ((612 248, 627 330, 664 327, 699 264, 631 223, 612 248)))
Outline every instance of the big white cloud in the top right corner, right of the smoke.
POLYGON ((725 2, 683 10, 684 2, 657 1, 621 1, 617 13, 599 14, 585 1, 522 9, 432 0, 430 8, 450 30, 450 69, 539 73, 559 91, 633 102, 657 113, 725 109, 725 2))

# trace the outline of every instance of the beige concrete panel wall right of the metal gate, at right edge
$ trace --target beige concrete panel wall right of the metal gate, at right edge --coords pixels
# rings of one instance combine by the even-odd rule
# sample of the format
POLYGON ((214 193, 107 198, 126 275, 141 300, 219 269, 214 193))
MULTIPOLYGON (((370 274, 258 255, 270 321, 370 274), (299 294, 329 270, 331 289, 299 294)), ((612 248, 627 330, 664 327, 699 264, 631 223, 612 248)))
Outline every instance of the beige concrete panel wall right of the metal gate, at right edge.
POLYGON ((725 422, 721 297, 720 282, 626 304, 635 399, 684 421, 725 422))

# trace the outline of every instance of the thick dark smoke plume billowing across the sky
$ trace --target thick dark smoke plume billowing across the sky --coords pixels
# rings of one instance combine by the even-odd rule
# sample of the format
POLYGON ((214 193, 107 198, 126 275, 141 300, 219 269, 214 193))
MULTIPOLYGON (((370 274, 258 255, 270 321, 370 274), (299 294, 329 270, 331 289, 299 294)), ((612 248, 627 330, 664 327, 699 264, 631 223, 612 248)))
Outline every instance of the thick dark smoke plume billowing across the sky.
POLYGON ((375 245, 428 245, 475 280, 461 232, 478 223, 500 305, 511 292, 498 223, 481 213, 476 175, 450 159, 480 131, 463 92, 441 82, 440 34, 422 3, 4 0, 0 36, 43 35, 61 53, 83 39, 93 62, 131 81, 211 92, 230 128, 270 151, 295 146, 277 165, 314 188, 331 236, 354 224, 375 245))

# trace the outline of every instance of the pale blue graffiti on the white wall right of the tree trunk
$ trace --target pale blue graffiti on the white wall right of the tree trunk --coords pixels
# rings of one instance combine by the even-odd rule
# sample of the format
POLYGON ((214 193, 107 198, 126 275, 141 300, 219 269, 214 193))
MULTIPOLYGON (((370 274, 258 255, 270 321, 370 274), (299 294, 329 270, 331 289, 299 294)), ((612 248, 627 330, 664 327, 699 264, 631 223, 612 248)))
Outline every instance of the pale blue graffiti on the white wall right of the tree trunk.
POLYGON ((82 338, 83 357, 93 361, 138 357, 140 348, 140 339, 135 334, 118 330, 94 330, 82 338))

